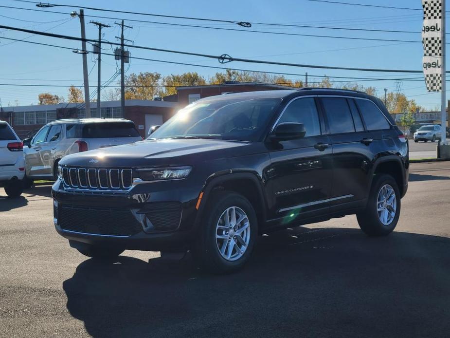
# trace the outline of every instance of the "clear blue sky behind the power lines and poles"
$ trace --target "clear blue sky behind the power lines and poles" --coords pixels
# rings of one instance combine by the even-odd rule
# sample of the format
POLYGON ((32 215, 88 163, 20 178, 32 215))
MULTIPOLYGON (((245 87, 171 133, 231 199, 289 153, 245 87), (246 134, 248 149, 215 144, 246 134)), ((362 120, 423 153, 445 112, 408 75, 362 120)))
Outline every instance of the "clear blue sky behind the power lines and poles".
MULTIPOLYGON (((350 2, 350 1, 349 1, 350 2)), ((398 7, 421 8, 420 0, 360 0, 354 1, 364 4, 390 5, 398 7)), ((228 0, 228 1, 150 1, 150 0, 55 0, 58 4, 76 4, 80 7, 91 6, 133 12, 146 12, 155 14, 167 14, 178 16, 191 16, 213 19, 231 19, 237 21, 254 21, 270 23, 296 23, 306 25, 321 25, 347 28, 392 29, 408 30, 417 33, 380 33, 380 32, 356 32, 325 30, 311 28, 280 28, 273 26, 253 26, 253 30, 266 30, 272 32, 288 32, 300 34, 317 34, 331 36, 364 37, 364 38, 388 38, 400 40, 420 41, 422 27, 422 13, 412 10, 382 9, 360 6, 348 6, 341 4, 311 2, 307 0, 228 0)), ((2 0, 4 6, 37 9, 32 3, 2 0)), ((54 7, 47 8, 55 12, 67 14, 51 14, 0 8, 0 22, 3 25, 20 28, 28 28, 38 31, 47 31, 71 36, 80 36, 80 23, 78 18, 71 19, 69 13, 78 11, 80 7, 54 7), (14 18, 14 19, 11 19, 14 18), (19 19, 19 20, 18 20, 19 19), (27 20, 27 21, 23 21, 27 20), (28 22, 39 21, 39 22, 28 22), (49 22, 54 21, 54 22, 49 22), (56 27, 55 27, 56 26, 56 27), (53 28, 52 28, 53 27, 53 28)), ((85 10, 85 15, 99 15, 123 19, 141 19, 159 22, 175 22, 185 24, 197 24, 210 27, 240 28, 232 23, 200 22, 183 19, 165 19, 148 16, 137 16, 120 13, 98 12, 85 10)), ((119 28, 114 25, 113 19, 98 19, 87 17, 86 21, 98 20, 111 24, 111 28, 104 29, 104 39, 117 40, 119 28)), ((267 35, 260 33, 232 31, 219 31, 203 28, 186 28, 165 26, 153 23, 139 23, 126 21, 133 26, 127 29, 125 36, 134 40, 136 45, 144 45, 155 48, 165 48, 180 51, 204 53, 204 54, 229 54, 234 57, 246 57, 261 60, 274 60, 281 62, 294 62, 302 64, 330 65, 344 67, 384 68, 384 69, 413 69, 420 70, 422 63, 422 44, 386 41, 361 41, 335 38, 313 38, 298 36, 267 35)), ((86 26, 87 38, 98 38, 97 27, 93 24, 86 26)), ((30 34, 0 29, 0 37, 22 39, 30 34)), ((81 42, 66 41, 62 39, 33 36, 28 41, 36 41, 61 46, 81 49, 81 42)), ((33 45, 25 42, 14 42, 0 39, 0 83, 2 84, 54 84, 54 85, 82 85, 82 57, 53 47, 33 45), (6 45, 8 44, 8 45, 6 45)), ((109 48, 108 45, 104 47, 109 48)), ((112 53, 107 51, 106 53, 112 53)), ((205 59, 198 56, 184 56, 162 52, 131 49, 132 56, 191 62, 201 65, 222 66, 214 59, 205 59)), ((97 69, 93 56, 88 55, 88 68, 90 85, 97 83, 97 69)), ((249 64, 241 62, 228 63, 230 67, 244 68, 270 72, 286 72, 304 74, 308 72, 309 80, 320 80, 320 77, 311 75, 332 76, 356 76, 356 77, 417 77, 414 74, 388 74, 355 72, 344 70, 320 70, 307 68, 294 68, 287 66, 249 64)), ((116 70, 113 56, 103 56, 102 80, 107 80, 116 70)), ((129 73, 158 72, 162 75, 178 74, 188 71, 197 71, 208 77, 216 70, 192 66, 165 64, 144 60, 131 60, 129 73)), ((217 70, 218 71, 218 70, 217 70)), ((304 80, 304 76, 287 76, 293 80, 304 80)), ((365 86, 374 86, 378 89, 378 95, 383 95, 384 88, 395 90, 395 81, 363 81, 365 86)), ((114 82, 113 84, 116 84, 114 82)), ((91 91, 94 88, 91 88, 91 91)), ((427 94, 423 81, 403 81, 401 89, 411 98, 427 109, 435 109, 440 105, 440 94, 427 94), (417 96, 415 96, 417 95, 417 96)), ((0 99, 3 106, 15 105, 17 99, 20 105, 36 104, 37 95, 42 92, 50 92, 67 97, 67 88, 62 87, 24 87, 24 86, 0 86, 0 99)))

